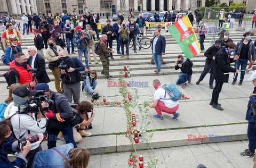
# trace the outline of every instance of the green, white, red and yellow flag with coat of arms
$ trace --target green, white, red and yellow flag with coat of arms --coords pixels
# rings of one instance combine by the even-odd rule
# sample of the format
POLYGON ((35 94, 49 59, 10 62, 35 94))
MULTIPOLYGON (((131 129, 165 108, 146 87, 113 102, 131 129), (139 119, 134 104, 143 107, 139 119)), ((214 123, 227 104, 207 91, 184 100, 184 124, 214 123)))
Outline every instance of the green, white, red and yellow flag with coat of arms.
POLYGON ((192 58, 201 52, 196 33, 188 19, 188 15, 174 22, 167 29, 177 41, 186 58, 192 58))

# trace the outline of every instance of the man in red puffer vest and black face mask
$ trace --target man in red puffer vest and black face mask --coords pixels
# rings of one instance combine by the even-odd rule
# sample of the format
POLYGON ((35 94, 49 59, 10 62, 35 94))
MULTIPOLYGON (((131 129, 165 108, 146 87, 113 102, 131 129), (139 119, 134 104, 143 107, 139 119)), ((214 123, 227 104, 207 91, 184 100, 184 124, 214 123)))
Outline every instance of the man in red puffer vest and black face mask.
POLYGON ((35 77, 35 80, 33 79, 33 73, 27 71, 31 67, 27 64, 26 55, 23 53, 17 53, 14 58, 15 60, 10 64, 10 69, 14 68, 19 73, 20 78, 18 78, 12 70, 9 70, 10 85, 13 83, 20 83, 31 89, 36 85, 37 80, 35 77))

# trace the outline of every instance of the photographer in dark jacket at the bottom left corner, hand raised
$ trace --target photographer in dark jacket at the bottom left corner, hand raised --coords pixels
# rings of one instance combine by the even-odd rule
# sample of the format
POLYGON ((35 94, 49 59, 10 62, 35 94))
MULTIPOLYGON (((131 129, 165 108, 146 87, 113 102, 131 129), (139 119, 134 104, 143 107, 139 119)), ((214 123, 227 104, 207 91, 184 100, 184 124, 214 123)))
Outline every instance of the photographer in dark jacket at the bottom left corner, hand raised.
POLYGON ((20 167, 25 168, 27 159, 25 158, 31 148, 30 142, 27 141, 26 146, 20 149, 17 159, 11 162, 7 157, 8 152, 17 152, 18 140, 12 139, 11 123, 9 120, 0 122, 0 167, 20 167))

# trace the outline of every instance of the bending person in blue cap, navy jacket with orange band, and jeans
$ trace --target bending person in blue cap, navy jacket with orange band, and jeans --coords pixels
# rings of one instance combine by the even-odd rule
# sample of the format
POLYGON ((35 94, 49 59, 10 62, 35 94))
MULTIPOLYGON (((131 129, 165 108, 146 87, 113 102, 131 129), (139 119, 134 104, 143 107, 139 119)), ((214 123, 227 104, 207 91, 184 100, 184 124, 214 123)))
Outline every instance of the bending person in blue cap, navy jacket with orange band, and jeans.
POLYGON ((36 85, 35 89, 44 91, 44 94, 48 95, 49 99, 53 100, 54 102, 54 105, 49 107, 46 115, 49 119, 49 124, 47 126, 48 149, 56 146, 56 141, 60 131, 63 133, 66 143, 72 143, 76 148, 77 146, 73 136, 73 127, 70 125, 70 121, 68 120, 73 116, 73 111, 66 96, 50 90, 49 85, 46 83, 39 83, 36 85))

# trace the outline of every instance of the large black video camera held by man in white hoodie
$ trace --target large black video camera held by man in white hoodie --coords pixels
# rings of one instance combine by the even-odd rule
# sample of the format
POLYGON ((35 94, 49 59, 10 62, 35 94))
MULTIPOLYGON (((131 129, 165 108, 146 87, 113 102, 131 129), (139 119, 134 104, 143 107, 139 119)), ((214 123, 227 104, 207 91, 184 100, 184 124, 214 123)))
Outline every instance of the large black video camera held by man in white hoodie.
POLYGON ((38 107, 41 107, 42 102, 49 104, 49 107, 43 108, 43 111, 54 107, 54 101, 49 99, 48 95, 44 94, 44 90, 37 90, 35 97, 31 97, 24 105, 18 107, 18 113, 38 113, 38 107), (33 103, 30 103, 33 100, 33 103))

